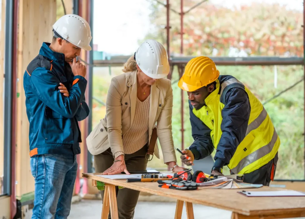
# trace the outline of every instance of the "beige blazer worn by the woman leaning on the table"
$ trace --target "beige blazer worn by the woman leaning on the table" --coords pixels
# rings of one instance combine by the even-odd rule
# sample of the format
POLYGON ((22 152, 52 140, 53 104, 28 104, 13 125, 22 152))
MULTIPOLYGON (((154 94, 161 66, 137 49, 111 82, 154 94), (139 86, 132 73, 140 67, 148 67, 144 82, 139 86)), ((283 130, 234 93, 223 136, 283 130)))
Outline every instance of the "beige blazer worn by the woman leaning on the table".
MULTIPOLYGON (((127 72, 111 79, 106 101, 106 116, 87 138, 87 147, 91 154, 100 154, 109 147, 112 154, 124 151, 122 137, 134 120, 136 100, 137 71, 127 72)), ((149 140, 152 129, 157 127, 164 163, 177 161, 171 126, 172 107, 173 90, 170 80, 166 78, 157 80, 151 86, 150 92, 149 140)), ((160 159, 157 143, 154 155, 160 159)))

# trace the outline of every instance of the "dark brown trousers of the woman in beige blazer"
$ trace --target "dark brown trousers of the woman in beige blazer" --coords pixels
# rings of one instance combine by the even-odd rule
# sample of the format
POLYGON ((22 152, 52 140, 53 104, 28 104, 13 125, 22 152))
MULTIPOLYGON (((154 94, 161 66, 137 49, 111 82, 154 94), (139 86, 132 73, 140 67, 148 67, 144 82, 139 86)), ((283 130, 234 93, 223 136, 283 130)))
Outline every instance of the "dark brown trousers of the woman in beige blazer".
MULTIPOLYGON (((142 147, 142 149, 136 151, 133 154, 125 154, 125 163, 128 171, 145 171, 147 166, 147 160, 145 158, 147 152, 147 145, 142 147)), ((114 158, 111 153, 110 148, 104 151, 102 154, 94 156, 94 167, 96 173, 104 172, 106 169, 111 167, 114 158)), ((101 191, 102 200, 104 198, 104 191, 101 191)), ((137 205, 138 198, 140 195, 139 191, 132 189, 118 189, 116 186, 117 194, 117 207, 120 219, 132 219, 135 214, 135 206, 137 205)), ((110 219, 110 211, 109 216, 110 219)))

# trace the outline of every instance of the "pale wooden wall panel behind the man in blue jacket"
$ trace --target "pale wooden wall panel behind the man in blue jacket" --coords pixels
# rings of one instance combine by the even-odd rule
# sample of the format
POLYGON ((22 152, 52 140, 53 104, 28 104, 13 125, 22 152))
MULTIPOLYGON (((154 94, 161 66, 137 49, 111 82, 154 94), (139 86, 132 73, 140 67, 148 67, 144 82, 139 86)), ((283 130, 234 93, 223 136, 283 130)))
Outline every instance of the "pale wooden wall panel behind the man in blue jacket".
POLYGON ((29 122, 26 114, 23 74, 29 62, 38 55, 42 42, 51 42, 56 21, 56 0, 20 0, 18 31, 18 83, 16 133, 16 196, 34 191, 30 171, 29 122))

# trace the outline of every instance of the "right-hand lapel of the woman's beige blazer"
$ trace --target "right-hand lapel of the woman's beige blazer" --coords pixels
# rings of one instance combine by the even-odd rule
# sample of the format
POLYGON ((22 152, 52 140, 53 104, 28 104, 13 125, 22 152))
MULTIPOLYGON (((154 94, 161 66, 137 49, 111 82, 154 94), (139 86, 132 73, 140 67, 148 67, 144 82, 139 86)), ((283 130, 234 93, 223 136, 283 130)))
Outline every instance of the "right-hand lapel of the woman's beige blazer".
POLYGON ((154 83, 150 87, 150 103, 149 103, 150 106, 149 106, 149 123, 148 123, 149 141, 150 141, 150 136, 152 134, 153 125, 156 119, 158 102, 159 102, 160 90, 157 87, 157 83, 158 81, 156 81, 156 83, 154 83))

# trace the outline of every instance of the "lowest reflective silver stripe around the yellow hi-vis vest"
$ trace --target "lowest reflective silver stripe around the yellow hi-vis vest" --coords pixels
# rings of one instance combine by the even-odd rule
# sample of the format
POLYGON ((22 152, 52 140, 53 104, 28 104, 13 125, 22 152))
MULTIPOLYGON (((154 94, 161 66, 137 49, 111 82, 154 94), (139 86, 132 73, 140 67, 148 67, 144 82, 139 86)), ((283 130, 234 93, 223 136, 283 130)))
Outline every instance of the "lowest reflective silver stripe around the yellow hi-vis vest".
POLYGON ((249 164, 259 160, 260 158, 264 157, 266 154, 269 154, 272 151, 272 148, 277 139, 278 139, 278 133, 276 133, 274 129, 273 136, 269 144, 261 147, 260 149, 244 157, 241 161, 239 161, 238 165, 235 168, 231 169, 231 171, 235 174, 238 174, 243 168, 245 168, 249 164))

